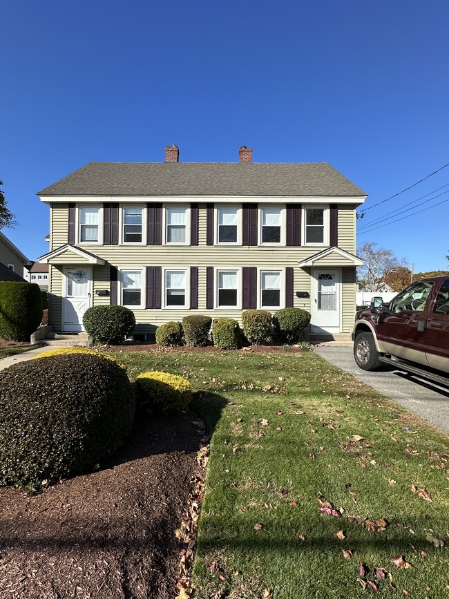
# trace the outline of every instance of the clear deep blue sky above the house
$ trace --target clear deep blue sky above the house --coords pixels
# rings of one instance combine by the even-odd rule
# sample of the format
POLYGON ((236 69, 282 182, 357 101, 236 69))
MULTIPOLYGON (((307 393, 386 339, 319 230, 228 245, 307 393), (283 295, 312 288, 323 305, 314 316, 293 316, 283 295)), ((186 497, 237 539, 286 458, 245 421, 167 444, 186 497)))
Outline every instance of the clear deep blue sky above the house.
POLYGON ((28 258, 48 251, 35 194, 87 162, 161 162, 171 144, 233 162, 244 144, 254 162, 330 162, 369 193, 358 245, 448 266, 449 202, 374 222, 449 199, 446 167, 374 207, 449 162, 446 0, 17 0, 1 21, 3 232, 28 258))

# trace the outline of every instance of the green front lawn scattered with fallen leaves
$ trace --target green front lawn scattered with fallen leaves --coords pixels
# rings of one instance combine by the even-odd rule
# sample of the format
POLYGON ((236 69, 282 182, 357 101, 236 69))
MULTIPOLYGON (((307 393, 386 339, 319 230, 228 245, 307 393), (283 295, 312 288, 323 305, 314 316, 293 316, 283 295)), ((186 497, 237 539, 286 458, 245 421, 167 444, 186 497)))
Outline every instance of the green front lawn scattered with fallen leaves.
POLYGON ((213 430, 195 597, 448 599, 447 436, 312 353, 117 357, 189 378, 213 430))

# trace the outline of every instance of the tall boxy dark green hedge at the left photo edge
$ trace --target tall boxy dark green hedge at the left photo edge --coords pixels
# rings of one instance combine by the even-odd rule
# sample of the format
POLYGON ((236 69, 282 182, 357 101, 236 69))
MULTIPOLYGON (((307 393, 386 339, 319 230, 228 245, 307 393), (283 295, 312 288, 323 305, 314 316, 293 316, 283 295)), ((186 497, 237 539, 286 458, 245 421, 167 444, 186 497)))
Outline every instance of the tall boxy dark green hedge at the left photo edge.
POLYGON ((36 283, 0 281, 0 337, 30 341, 42 320, 41 290, 36 283))

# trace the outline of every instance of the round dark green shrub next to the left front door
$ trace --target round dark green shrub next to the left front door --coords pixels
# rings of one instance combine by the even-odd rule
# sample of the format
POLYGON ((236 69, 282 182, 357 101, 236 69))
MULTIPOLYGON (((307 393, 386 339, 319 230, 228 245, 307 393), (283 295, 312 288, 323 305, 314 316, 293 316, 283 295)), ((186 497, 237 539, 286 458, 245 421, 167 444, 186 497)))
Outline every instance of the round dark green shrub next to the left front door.
POLYGON ((124 306, 93 306, 84 312, 84 328, 95 343, 123 343, 135 327, 132 310, 124 306))

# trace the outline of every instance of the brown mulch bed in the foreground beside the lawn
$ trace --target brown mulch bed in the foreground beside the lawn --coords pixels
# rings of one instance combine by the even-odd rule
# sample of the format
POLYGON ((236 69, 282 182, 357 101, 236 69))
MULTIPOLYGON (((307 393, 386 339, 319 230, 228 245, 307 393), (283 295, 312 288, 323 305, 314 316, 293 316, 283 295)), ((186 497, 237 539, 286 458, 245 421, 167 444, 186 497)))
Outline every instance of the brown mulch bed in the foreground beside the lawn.
POLYGON ((192 415, 142 419, 96 473, 0 487, 0 597, 173 599, 200 448, 192 415))

